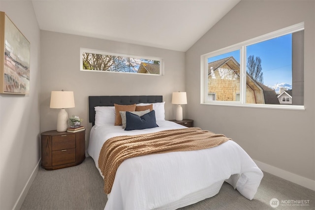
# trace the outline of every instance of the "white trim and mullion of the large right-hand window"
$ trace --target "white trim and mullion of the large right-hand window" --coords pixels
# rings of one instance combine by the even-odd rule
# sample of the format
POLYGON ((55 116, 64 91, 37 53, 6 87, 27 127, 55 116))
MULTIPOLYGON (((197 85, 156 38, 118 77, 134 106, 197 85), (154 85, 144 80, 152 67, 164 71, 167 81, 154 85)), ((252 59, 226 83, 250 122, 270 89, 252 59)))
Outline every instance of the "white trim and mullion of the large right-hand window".
POLYGON ((238 44, 234 44, 232 46, 228 46, 225 48, 222 48, 220 50, 213 51, 211 53, 207 53, 200 56, 200 104, 204 105, 220 105, 220 106, 237 106, 237 107, 256 107, 256 108, 271 108, 271 109, 288 109, 288 110, 305 110, 304 105, 283 105, 283 104, 247 104, 246 98, 244 97, 246 95, 246 47, 248 45, 252 45, 258 42, 266 41, 269 39, 273 39, 279 36, 283 36, 289 33, 294 33, 296 31, 304 30, 304 22, 295 24, 293 26, 286 27, 281 30, 276 30, 255 38, 252 38, 250 40, 240 42, 238 44), (241 71, 241 77, 240 77, 240 90, 242 90, 240 95, 240 101, 209 101, 207 100, 208 95, 208 86, 206 85, 206 78, 208 78, 208 64, 207 64, 207 58, 218 56, 221 54, 229 53, 232 51, 240 50, 241 59, 243 60, 240 63, 240 71, 241 71), (245 65, 245 66, 244 66, 245 65))

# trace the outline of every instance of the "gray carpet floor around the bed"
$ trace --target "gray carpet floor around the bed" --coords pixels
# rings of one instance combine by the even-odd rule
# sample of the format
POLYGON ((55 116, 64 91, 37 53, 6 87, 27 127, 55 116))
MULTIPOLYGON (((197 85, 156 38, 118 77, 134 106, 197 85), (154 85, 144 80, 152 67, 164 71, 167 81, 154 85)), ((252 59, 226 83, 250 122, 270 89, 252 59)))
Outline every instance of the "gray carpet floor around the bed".
MULTIPOLYGON (((21 210, 103 210, 106 201, 103 179, 87 157, 78 166, 39 169, 21 210)), ((315 210, 315 191, 264 172, 252 201, 224 183, 216 196, 181 210, 315 210), (273 198, 280 202, 277 208, 270 205, 273 198), (301 200, 303 206, 298 204, 301 200)))

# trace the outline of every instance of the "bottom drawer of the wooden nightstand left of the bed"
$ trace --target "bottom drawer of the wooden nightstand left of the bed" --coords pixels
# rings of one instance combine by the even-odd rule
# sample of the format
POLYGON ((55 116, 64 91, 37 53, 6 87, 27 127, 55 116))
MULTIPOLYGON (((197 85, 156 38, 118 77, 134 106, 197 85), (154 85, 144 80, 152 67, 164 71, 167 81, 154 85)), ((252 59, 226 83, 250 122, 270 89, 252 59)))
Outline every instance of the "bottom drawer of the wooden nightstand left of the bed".
POLYGON ((57 150, 52 154, 52 166, 75 162, 75 149, 57 150))

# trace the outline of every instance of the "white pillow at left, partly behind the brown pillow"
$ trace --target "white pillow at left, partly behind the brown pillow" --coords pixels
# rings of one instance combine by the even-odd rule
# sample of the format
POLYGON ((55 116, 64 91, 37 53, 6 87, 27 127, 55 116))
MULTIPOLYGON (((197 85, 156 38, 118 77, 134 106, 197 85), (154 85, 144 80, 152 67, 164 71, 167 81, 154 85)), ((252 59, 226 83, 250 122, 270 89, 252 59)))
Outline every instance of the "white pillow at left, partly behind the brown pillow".
POLYGON ((114 106, 95 106, 95 125, 114 124, 116 111, 114 106))

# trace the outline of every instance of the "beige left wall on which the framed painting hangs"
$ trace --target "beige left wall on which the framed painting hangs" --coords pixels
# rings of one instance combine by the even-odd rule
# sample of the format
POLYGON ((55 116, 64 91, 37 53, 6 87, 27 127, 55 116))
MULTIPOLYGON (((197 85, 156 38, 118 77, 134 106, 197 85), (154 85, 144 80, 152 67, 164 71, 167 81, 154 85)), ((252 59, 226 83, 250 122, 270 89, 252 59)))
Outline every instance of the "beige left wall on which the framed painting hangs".
POLYGON ((11 210, 20 209, 40 159, 40 31, 32 1, 1 0, 0 11, 31 42, 30 94, 0 94, 0 209, 11 210))

